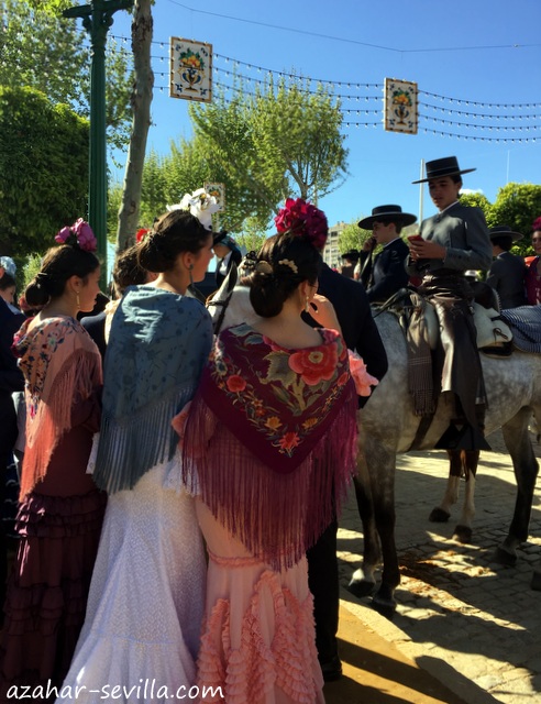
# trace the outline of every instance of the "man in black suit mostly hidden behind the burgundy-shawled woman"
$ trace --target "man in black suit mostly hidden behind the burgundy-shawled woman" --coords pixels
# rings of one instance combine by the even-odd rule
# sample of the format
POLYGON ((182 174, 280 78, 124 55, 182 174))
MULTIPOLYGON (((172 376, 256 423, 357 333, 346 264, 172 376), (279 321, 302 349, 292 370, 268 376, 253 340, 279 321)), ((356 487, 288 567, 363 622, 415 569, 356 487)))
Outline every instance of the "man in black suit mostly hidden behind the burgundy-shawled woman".
MULTIPOLYGON (((318 293, 334 306, 347 349, 358 352, 368 373, 380 381, 387 372, 387 354, 363 286, 323 264, 318 293)), ((311 318, 308 317, 307 321, 316 326, 311 318)), ((360 397, 358 400, 362 406, 368 399, 360 397)), ((336 680, 342 674, 336 644, 340 605, 336 532, 338 520, 334 520, 308 551, 316 645, 325 681, 336 680)))

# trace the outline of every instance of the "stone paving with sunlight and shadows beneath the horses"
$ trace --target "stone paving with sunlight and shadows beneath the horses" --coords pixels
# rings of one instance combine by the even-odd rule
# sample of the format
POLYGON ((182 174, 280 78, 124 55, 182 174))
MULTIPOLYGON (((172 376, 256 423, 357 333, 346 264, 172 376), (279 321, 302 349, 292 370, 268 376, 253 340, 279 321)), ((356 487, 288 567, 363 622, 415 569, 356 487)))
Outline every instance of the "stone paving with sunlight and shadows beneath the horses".
MULTIPOLYGON (((346 695, 339 685, 328 685, 328 704, 541 702, 541 592, 530 588, 533 565, 541 568, 541 480, 533 502, 530 539, 520 550, 517 566, 495 564, 492 556, 507 535, 516 487, 500 433, 490 436, 489 442, 495 451, 482 455, 470 544, 452 540, 459 508, 449 524, 428 521, 430 510, 443 496, 448 476, 445 453, 433 451, 399 458, 396 477, 399 606, 389 622, 369 607, 368 598, 358 601, 342 590, 341 637, 346 678, 340 686, 343 690, 355 678, 357 684, 365 682, 365 686, 350 690, 349 698, 340 698, 346 695), (349 641, 355 639, 357 648, 350 648, 349 641), (379 683, 367 680, 366 672, 363 678, 363 662, 368 662, 369 671, 366 657, 368 651, 377 652, 377 648, 385 653, 373 663, 380 668, 379 683), (393 660, 396 652, 405 658, 406 669, 404 662, 397 664, 393 660), (418 690, 415 684, 413 690, 404 690, 405 672, 416 668, 423 676, 435 678, 444 688, 443 693, 434 690, 435 698, 422 698, 430 695, 427 688, 430 690, 431 684, 419 673, 418 690), (382 690, 386 698, 376 697, 382 690)), ((537 446, 538 457, 540 450, 537 446)), ((350 502, 339 534, 344 586, 361 560, 360 530, 356 508, 350 502)))

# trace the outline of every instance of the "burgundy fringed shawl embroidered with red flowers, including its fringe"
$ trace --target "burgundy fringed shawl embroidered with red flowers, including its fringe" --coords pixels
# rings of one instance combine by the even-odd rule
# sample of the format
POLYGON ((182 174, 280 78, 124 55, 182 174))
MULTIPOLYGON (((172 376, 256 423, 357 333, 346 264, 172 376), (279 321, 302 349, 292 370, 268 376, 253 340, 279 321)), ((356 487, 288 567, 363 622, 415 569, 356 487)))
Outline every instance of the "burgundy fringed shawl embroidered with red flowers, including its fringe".
POLYGON ((286 350, 246 324, 223 331, 184 431, 186 484, 273 569, 316 542, 355 470, 347 350, 320 332, 320 345, 286 350))

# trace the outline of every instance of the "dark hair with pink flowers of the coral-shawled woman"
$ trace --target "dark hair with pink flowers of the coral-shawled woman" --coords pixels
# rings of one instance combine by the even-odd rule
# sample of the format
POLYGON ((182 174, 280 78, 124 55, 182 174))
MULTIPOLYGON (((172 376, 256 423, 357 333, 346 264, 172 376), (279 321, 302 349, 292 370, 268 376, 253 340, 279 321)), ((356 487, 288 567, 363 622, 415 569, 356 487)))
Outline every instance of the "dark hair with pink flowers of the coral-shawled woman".
POLYGON ((79 218, 70 228, 62 229, 55 237, 58 246, 51 248, 42 261, 40 273, 24 292, 26 304, 34 308, 44 306, 51 298, 63 295, 66 282, 78 276, 84 282, 100 265, 92 229, 79 218))

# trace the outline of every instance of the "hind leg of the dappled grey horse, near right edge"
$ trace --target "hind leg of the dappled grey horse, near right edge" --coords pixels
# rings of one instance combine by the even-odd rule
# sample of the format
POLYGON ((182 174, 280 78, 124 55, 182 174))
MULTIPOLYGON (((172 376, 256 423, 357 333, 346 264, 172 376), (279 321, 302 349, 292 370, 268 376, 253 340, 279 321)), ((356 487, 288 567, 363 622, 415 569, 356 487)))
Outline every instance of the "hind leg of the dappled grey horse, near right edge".
POLYGON ((517 547, 528 540, 533 492, 539 472, 528 431, 530 415, 530 408, 521 408, 515 418, 501 428, 517 481, 517 498, 509 532, 495 554, 495 560, 501 564, 514 565, 517 561, 517 547))

